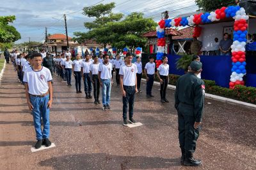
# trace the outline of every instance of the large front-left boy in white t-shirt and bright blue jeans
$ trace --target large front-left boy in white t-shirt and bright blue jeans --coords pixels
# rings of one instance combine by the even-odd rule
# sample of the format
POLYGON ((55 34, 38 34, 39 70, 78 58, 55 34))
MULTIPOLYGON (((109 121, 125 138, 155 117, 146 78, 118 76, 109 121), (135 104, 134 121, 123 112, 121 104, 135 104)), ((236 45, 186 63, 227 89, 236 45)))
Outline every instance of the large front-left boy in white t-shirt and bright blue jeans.
POLYGON ((26 99, 29 110, 32 111, 34 126, 36 131, 36 145, 38 149, 42 145, 51 146, 50 135, 50 108, 52 106, 52 75, 51 71, 42 66, 42 55, 33 53, 33 66, 24 73, 24 83, 26 87, 26 99), (41 117, 44 129, 41 129, 41 117))

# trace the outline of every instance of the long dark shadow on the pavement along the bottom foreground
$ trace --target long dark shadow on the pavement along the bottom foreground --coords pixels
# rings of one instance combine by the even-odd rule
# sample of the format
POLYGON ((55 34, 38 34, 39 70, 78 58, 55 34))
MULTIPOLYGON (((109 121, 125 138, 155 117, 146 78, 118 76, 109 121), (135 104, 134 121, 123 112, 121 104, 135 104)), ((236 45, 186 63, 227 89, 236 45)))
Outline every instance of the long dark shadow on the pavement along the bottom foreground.
POLYGON ((65 155, 42 160, 40 166, 53 169, 157 169, 180 166, 180 158, 119 156, 106 153, 65 155))

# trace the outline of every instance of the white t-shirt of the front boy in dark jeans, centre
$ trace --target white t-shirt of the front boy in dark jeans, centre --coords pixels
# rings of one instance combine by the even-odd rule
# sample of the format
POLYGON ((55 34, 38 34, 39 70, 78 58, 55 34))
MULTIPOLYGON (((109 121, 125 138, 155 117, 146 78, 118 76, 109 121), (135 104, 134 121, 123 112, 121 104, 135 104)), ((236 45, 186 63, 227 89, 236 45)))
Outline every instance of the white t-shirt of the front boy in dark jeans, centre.
POLYGON ((126 86, 134 86, 136 84, 136 73, 138 73, 138 69, 135 64, 130 67, 123 64, 119 71, 119 74, 123 75, 123 83, 126 86))

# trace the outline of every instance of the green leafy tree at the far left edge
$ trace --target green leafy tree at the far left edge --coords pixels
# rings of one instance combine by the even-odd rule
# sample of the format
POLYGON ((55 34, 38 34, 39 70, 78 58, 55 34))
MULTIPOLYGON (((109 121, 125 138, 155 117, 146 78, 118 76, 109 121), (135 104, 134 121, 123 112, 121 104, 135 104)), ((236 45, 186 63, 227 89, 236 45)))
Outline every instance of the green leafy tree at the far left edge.
POLYGON ((9 25, 15 20, 15 16, 0 17, 0 43, 12 43, 20 39, 20 33, 9 25))

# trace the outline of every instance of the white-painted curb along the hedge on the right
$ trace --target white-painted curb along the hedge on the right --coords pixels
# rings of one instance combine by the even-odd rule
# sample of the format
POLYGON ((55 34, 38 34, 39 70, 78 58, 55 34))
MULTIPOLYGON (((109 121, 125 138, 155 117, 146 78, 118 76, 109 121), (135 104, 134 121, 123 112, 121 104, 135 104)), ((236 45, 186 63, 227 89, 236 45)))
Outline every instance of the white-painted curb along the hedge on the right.
MULTIPOLYGON (((141 80, 142 80, 142 81, 146 81, 145 78, 141 78, 141 80)), ((154 84, 155 84, 155 85, 160 85, 160 83, 157 82, 157 81, 154 81, 154 84)), ((168 85, 167 88, 168 88, 168 89, 175 90, 175 89, 176 89, 176 86, 175 86, 175 85, 168 85)), ((205 93, 205 97, 210 98, 210 99, 215 99, 215 100, 217 100, 217 101, 231 102, 231 103, 242 104, 242 105, 244 105, 244 106, 249 106, 249 107, 252 107, 252 108, 256 108, 256 105, 255 105, 255 104, 246 103, 246 102, 243 102, 243 101, 237 101, 237 100, 234 100, 234 99, 229 99, 229 98, 226 98, 226 97, 216 96, 216 95, 213 95, 213 94, 207 94, 207 93, 205 93)))

